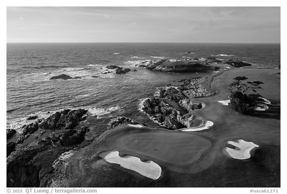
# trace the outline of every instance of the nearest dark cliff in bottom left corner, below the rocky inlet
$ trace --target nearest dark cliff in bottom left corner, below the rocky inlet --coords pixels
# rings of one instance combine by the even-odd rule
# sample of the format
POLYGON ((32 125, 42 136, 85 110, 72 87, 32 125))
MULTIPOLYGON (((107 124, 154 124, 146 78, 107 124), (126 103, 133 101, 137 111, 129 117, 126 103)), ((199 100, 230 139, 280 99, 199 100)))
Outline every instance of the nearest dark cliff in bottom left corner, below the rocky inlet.
MULTIPOLYGON (((53 162, 84 140, 87 129, 69 129, 13 151, 7 157, 7 187, 46 187, 54 176, 53 162)), ((7 150, 13 150, 13 143, 7 150)))

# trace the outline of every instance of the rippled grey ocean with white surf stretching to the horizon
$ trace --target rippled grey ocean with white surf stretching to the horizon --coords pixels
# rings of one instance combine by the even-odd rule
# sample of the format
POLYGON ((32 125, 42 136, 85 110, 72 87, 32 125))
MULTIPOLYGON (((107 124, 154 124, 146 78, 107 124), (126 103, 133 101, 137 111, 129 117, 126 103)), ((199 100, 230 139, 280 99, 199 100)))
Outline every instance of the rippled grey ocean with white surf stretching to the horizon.
POLYGON ((158 87, 211 72, 166 73, 136 65, 163 58, 194 57, 234 59, 254 67, 277 68, 280 44, 7 43, 6 128, 20 131, 23 124, 33 122, 26 120, 28 116, 47 118, 66 108, 88 109, 88 119, 83 122, 101 130, 119 116, 159 127, 140 111, 141 101, 152 97, 158 87), (132 71, 103 74, 108 71, 107 65, 132 71), (49 80, 61 74, 82 79, 49 80))

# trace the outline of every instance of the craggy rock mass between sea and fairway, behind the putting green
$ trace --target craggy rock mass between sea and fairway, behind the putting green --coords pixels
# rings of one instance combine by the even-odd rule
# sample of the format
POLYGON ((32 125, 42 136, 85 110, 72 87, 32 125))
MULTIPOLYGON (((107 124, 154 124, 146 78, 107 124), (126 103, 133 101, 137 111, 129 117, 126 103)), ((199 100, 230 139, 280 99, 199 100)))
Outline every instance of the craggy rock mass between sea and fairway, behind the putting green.
POLYGON ((207 78, 180 80, 181 84, 177 87, 168 85, 159 90, 158 97, 145 99, 142 110, 170 130, 200 126, 204 120, 194 110, 205 105, 194 98, 216 94, 210 87, 206 87, 210 84, 207 78), (171 100, 173 105, 165 99, 171 100))

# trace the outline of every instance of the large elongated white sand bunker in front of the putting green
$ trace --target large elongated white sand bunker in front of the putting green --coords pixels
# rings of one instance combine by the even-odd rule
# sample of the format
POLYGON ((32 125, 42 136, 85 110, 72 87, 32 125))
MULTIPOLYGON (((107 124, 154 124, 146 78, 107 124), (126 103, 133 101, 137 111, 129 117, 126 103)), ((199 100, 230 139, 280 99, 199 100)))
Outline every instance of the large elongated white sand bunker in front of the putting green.
POLYGON ((153 180, 158 179, 161 174, 161 168, 156 163, 152 161, 142 162, 140 158, 134 156, 120 157, 118 151, 102 152, 99 156, 109 163, 119 164, 153 180))

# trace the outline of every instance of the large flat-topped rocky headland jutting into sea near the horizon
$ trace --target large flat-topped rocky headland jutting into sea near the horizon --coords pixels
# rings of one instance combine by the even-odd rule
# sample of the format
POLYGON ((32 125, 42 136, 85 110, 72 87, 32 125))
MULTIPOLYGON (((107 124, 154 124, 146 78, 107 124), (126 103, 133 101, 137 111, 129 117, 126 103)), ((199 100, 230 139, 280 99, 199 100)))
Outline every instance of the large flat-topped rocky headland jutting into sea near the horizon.
POLYGON ((165 61, 153 68, 153 70, 164 72, 199 72, 216 71, 219 69, 219 67, 208 66, 193 61, 165 61))

